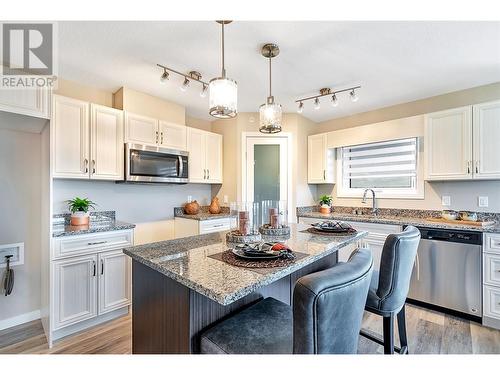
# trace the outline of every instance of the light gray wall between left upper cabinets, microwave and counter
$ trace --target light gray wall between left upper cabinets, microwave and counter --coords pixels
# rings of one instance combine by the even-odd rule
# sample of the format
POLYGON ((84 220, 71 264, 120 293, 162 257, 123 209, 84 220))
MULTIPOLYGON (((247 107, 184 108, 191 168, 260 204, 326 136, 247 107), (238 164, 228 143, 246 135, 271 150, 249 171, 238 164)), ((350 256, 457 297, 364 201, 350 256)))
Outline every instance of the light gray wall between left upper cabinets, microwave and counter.
POLYGON ((174 207, 188 195, 201 205, 210 204, 210 185, 116 184, 112 181, 54 180, 54 213, 68 212, 65 201, 76 196, 98 204, 97 211, 116 211, 118 220, 143 223, 171 219, 174 207))

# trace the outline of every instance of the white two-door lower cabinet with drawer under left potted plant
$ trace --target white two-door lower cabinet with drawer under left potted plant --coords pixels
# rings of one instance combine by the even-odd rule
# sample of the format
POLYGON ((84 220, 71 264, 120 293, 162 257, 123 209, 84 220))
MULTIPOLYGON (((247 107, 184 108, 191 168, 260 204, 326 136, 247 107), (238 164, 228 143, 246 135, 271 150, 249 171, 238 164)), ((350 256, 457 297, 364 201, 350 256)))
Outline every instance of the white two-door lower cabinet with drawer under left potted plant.
MULTIPOLYGON (((60 257, 52 261, 52 323, 53 329, 77 325, 92 318, 126 307, 131 303, 132 269, 130 258, 121 250, 132 245, 132 232, 122 231, 130 240, 119 247, 103 240, 113 233, 96 233, 95 238, 82 235, 89 244, 87 254, 60 257), (106 247, 108 245, 108 247, 106 247)), ((78 236, 80 237, 80 236, 78 236)), ((57 239, 54 247, 74 242, 74 237, 57 239)), ((99 319, 96 319, 98 321, 99 319)), ((86 323, 88 324, 88 323, 86 323)))

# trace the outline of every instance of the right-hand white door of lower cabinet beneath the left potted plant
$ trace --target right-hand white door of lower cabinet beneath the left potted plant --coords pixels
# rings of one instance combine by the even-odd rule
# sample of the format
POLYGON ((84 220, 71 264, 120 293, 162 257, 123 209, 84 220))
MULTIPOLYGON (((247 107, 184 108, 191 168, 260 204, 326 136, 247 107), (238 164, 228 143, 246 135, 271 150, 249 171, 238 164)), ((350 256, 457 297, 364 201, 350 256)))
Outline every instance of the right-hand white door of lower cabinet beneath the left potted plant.
POLYGON ((130 258, 121 250, 99 254, 99 315, 130 304, 130 258))

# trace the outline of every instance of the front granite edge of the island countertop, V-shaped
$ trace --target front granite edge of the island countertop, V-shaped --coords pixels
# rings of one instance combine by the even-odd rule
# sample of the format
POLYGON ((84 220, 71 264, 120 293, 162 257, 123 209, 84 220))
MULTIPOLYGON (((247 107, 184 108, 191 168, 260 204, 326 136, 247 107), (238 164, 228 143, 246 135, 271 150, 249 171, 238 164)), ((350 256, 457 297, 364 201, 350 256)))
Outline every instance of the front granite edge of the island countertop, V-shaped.
MULTIPOLYGON (((247 287, 242 288, 242 289, 239 289, 235 292, 232 292, 232 293, 224 295, 224 296, 220 295, 220 294, 213 293, 212 291, 205 288, 204 286, 202 286, 194 281, 180 277, 179 275, 177 275, 169 270, 160 268, 157 266, 157 264, 150 262, 147 259, 144 259, 143 257, 138 256, 134 252, 128 251, 127 248, 124 248, 123 252, 126 255, 130 256, 133 260, 135 260, 141 264, 144 264, 145 266, 148 266, 153 271, 159 272, 159 273, 179 282, 180 284, 184 285, 185 287, 192 289, 195 292, 197 292, 197 293, 199 293, 199 294, 201 294, 201 295, 203 295, 203 296, 205 296, 205 297, 207 297, 207 298, 209 298, 209 299, 211 299, 211 300, 213 300, 213 301, 215 301, 223 306, 228 306, 231 303, 237 301, 238 299, 241 299, 241 298, 249 295, 250 293, 256 291, 257 289, 262 288, 266 285, 272 284, 273 282, 275 282, 275 281, 277 281, 285 276, 288 276, 288 275, 292 274, 293 272, 298 271, 299 269, 304 268, 317 260, 320 260, 328 255, 335 253, 336 251, 338 251, 339 249, 341 249, 347 245, 355 243, 356 241, 360 240, 361 238, 366 237, 367 235, 368 235, 368 232, 358 232, 356 234, 356 236, 350 237, 345 243, 342 244, 342 246, 334 245, 331 247, 327 247, 323 252, 321 252, 321 254, 311 255, 309 257, 301 259, 297 263, 294 263, 291 266, 289 266, 283 270, 278 271, 276 274, 269 276, 269 277, 266 277, 261 282, 258 282, 254 285, 251 285, 251 286, 247 286, 247 287)), ((251 269, 248 269, 248 271, 252 272, 251 269)), ((264 276, 267 276, 267 275, 264 275, 264 276)))

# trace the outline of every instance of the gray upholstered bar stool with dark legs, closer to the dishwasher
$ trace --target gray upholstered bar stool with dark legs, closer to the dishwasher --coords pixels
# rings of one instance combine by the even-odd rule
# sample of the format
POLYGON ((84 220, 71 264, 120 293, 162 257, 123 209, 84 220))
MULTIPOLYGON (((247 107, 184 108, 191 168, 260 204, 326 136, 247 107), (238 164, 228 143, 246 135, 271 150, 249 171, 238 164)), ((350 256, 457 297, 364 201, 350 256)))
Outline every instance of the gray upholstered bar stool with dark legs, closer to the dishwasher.
POLYGON ((410 288, 413 263, 420 242, 420 231, 412 226, 387 237, 380 259, 380 270, 375 270, 366 300, 366 310, 382 316, 383 340, 361 331, 361 335, 384 346, 384 354, 394 354, 394 317, 397 315, 401 348, 408 354, 405 301, 410 288))

